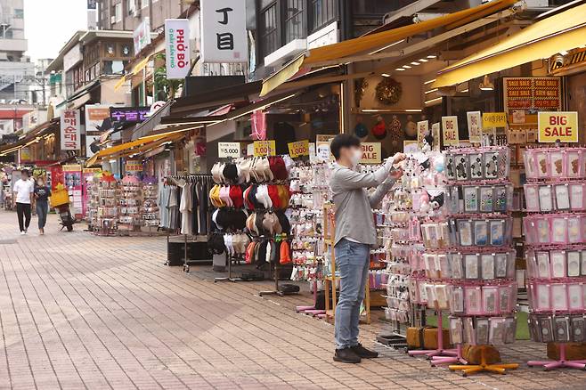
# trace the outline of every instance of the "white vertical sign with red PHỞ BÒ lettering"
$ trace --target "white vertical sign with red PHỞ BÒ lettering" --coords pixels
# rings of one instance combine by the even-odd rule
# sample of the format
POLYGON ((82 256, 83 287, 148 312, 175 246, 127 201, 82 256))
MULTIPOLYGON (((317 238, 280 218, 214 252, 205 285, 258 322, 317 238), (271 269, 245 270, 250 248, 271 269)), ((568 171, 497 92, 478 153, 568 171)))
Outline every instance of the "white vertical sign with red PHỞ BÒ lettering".
POLYGON ((191 60, 189 41, 189 20, 165 20, 165 59, 167 79, 181 79, 188 76, 191 60))

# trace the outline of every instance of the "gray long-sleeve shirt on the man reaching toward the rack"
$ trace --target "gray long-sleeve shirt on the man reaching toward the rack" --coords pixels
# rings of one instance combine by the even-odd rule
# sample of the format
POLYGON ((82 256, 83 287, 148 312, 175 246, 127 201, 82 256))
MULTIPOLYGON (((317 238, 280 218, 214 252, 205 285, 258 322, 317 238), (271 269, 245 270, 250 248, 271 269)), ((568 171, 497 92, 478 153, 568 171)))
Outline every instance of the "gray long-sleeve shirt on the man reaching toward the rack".
POLYGON ((336 239, 344 238, 375 245, 377 230, 372 217, 376 207, 395 183, 388 177, 392 164, 387 162, 371 174, 362 174, 353 169, 334 164, 330 175, 330 188, 336 205, 336 239), (388 177, 388 178, 387 178, 388 177), (377 187, 372 194, 366 189, 377 187))

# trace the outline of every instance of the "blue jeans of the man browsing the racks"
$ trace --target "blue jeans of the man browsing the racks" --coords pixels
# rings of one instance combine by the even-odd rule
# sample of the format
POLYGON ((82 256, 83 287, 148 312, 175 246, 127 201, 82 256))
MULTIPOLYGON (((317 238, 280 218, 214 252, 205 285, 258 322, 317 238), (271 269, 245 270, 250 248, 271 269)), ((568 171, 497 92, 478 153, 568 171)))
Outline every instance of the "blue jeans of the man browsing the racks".
POLYGON ((336 348, 358 345, 360 305, 368 280, 370 246, 342 239, 336 244, 336 270, 340 276, 340 296, 336 306, 336 348))

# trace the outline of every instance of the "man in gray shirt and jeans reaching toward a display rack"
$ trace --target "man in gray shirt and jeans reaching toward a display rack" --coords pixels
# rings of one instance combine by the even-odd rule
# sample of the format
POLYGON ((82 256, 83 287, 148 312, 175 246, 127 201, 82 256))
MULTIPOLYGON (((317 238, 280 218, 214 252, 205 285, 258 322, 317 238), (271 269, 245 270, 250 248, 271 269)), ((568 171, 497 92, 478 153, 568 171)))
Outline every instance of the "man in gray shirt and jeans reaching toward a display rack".
POLYGON ((336 204, 336 268, 340 276, 340 296, 336 306, 336 353, 334 361, 359 363, 362 358, 376 358, 358 342, 360 306, 368 280, 370 247, 377 243, 372 216, 376 207, 403 175, 393 167, 405 156, 397 153, 371 174, 356 171, 362 158, 360 140, 354 135, 338 134, 330 144, 336 164, 330 176, 330 188, 336 204), (376 187, 368 194, 366 189, 376 187))

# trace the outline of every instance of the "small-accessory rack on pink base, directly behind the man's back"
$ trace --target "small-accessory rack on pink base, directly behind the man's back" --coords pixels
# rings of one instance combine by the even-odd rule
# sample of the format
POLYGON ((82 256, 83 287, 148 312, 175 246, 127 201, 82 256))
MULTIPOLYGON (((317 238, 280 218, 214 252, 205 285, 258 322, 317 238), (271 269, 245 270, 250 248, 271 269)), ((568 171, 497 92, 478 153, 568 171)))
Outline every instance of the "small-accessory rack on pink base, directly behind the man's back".
POLYGON ((317 304, 318 291, 323 290, 323 206, 331 199, 329 174, 329 162, 308 164, 297 160, 289 184, 293 236, 291 280, 305 280, 313 291, 313 305, 296 306, 296 312, 319 318, 325 316, 325 310, 318 309, 317 304))

